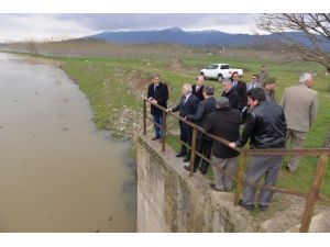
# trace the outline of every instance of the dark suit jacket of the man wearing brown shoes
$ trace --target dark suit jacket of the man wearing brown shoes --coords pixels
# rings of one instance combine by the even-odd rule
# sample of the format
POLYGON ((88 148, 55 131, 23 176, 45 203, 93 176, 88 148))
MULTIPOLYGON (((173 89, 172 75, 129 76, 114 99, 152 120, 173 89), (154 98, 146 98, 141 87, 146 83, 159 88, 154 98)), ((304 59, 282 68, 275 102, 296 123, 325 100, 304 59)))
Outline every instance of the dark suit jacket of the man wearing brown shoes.
POLYGON ((199 126, 204 127, 207 115, 213 111, 216 111, 216 99, 215 97, 210 97, 200 101, 197 112, 194 115, 186 115, 186 120, 195 122, 199 126))

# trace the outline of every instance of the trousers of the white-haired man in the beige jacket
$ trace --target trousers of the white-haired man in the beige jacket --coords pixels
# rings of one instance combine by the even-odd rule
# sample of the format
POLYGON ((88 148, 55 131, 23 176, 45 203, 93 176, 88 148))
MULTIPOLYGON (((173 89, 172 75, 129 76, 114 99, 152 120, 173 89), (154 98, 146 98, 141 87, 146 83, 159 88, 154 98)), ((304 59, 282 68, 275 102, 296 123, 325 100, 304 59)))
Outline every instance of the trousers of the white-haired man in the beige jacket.
MULTIPOLYGON (((306 141, 306 132, 298 132, 294 130, 287 130, 286 138, 292 141, 293 148, 304 148, 306 141)), ((299 165, 300 156, 295 155, 290 157, 290 160, 287 164, 289 171, 294 172, 297 170, 299 165)))

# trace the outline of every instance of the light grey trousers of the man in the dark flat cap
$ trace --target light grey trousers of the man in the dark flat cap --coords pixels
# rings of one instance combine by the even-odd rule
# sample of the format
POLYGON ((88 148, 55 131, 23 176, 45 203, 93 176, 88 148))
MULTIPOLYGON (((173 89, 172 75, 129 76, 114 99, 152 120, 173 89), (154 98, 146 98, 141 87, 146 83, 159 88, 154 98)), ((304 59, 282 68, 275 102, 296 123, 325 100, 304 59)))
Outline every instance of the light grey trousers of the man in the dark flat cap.
POLYGON ((237 157, 222 159, 212 156, 212 170, 216 188, 219 190, 231 190, 234 186, 234 181, 228 176, 221 172, 221 169, 226 172, 235 176, 238 170, 237 157))

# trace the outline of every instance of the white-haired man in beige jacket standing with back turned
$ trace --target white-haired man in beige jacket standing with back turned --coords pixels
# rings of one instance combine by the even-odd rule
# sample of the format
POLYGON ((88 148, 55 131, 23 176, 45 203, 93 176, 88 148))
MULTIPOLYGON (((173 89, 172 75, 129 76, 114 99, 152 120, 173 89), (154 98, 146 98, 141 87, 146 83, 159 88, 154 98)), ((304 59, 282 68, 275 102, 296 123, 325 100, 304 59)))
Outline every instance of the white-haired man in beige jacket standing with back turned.
MULTIPOLYGON (((292 139, 293 148, 304 148, 307 132, 312 126, 318 111, 318 93, 312 90, 314 77, 304 72, 299 85, 286 88, 280 105, 287 123, 287 139, 292 139)), ((286 169, 295 172, 298 168, 299 156, 292 156, 286 169)))

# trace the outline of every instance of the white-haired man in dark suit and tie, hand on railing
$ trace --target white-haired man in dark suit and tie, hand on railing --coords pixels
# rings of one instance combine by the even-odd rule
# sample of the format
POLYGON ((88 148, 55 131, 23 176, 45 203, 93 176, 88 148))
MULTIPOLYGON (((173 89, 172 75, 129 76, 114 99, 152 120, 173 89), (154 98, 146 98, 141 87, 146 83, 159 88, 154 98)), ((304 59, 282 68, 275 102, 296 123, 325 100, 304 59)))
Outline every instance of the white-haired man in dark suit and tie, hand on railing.
MULTIPOLYGON (((184 85, 182 89, 182 100, 178 105, 173 109, 167 109, 167 112, 177 112, 179 111, 179 116, 185 117, 189 114, 195 114, 198 108, 199 100, 196 96, 193 94, 191 85, 184 85)), ((193 128, 185 124, 184 122, 179 121, 180 125, 180 141, 191 146, 191 136, 193 136, 193 128)), ((188 161, 190 159, 190 150, 182 144, 180 151, 176 155, 176 157, 184 157, 186 158, 184 161, 188 161)))

